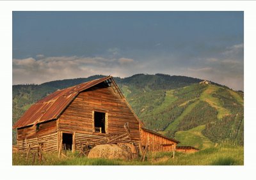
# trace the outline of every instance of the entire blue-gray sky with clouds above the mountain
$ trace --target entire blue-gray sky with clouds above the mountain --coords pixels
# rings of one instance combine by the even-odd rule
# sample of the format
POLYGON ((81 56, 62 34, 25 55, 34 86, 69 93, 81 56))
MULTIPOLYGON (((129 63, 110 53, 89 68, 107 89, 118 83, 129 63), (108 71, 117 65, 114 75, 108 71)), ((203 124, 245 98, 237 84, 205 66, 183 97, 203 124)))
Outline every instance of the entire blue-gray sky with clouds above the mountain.
POLYGON ((13 84, 164 73, 244 89, 243 11, 13 11, 13 84))

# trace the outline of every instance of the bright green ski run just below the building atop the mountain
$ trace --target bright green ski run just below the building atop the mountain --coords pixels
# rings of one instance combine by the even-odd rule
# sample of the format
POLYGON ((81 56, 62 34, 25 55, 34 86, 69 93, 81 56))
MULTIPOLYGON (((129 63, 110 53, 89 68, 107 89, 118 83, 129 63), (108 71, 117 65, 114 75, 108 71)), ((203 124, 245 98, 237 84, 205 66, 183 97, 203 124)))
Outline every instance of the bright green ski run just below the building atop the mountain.
POLYGON ((201 94, 200 100, 207 101, 211 107, 214 107, 218 111, 218 119, 221 119, 223 116, 230 114, 230 112, 222 107, 218 98, 211 96, 211 94, 218 91, 218 89, 220 89, 220 87, 209 84, 207 89, 205 89, 205 91, 201 94))

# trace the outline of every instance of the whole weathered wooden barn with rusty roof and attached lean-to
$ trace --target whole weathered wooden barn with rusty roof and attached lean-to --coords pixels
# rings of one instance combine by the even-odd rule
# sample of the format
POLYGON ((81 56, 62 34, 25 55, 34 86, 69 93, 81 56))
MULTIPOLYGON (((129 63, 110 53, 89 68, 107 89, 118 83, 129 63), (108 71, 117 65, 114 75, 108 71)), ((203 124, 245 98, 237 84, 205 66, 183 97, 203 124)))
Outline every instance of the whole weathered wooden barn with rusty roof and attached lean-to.
POLYGON ((65 144, 73 152, 81 144, 131 142, 148 151, 174 151, 179 141, 147 130, 134 114, 113 77, 58 90, 33 104, 19 121, 17 147, 58 151, 65 144))

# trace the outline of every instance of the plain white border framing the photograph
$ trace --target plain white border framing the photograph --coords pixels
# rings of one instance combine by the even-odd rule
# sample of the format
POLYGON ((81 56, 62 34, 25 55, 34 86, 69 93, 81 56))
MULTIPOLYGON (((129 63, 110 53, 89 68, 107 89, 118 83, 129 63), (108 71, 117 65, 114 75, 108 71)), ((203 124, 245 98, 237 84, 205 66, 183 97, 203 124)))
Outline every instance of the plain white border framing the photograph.
MULTIPOLYGON (((255 1, 0 1, 3 179, 252 179, 255 160, 255 1), (12 11, 244 11, 244 166, 12 166, 12 11), (4 138, 3 138, 4 137, 4 138), (99 172, 100 169, 100 172, 99 172), (102 178, 104 177, 104 178, 102 178)), ((2 178, 1 178, 2 179, 2 178)))

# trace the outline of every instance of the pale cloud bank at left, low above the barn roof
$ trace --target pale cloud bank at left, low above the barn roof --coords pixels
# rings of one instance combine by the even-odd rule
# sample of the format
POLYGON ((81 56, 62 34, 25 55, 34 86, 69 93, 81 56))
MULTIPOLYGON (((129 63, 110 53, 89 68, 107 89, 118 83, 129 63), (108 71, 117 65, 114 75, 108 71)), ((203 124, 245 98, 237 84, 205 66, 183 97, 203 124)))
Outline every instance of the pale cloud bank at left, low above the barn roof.
POLYGON ((134 68, 134 71, 130 71, 130 68, 127 68, 136 61, 126 57, 41 57, 37 60, 33 57, 13 59, 13 84, 41 84, 51 80, 88 77, 95 74, 126 77, 136 70, 134 68))

